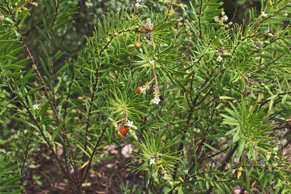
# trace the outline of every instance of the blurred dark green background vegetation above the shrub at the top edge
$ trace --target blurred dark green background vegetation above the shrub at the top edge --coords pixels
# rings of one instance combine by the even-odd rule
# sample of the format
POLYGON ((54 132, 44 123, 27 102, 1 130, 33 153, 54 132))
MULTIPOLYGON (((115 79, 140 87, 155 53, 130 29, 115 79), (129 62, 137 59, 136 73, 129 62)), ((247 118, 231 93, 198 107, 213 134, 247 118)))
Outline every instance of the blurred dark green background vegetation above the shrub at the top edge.
MULTIPOLYGON (((44 50, 49 49, 49 44, 46 44, 46 40, 36 28, 43 29, 44 27, 39 16, 41 14, 48 15, 45 1, 38 0, 37 7, 31 4, 27 6, 27 8, 31 9, 31 16, 27 18, 24 34, 35 59, 46 57, 44 50), (42 44, 39 44, 40 42, 42 44)), ((116 13, 120 9, 128 9, 136 0, 75 0, 75 2, 78 2, 78 14, 73 17, 70 23, 65 24, 54 33, 55 52, 58 50, 66 51, 61 61, 76 59, 78 51, 85 45, 84 35, 90 36, 92 34, 95 24, 97 24, 98 19, 102 20, 103 14, 109 13, 110 10, 116 13)), ((188 0, 178 2, 189 5, 188 0)), ((165 8, 162 3, 158 3, 156 0, 144 0, 142 4, 147 5, 156 12, 163 12, 165 8)), ((243 19, 247 21, 247 12, 250 7, 256 7, 257 11, 259 11, 260 0, 224 0, 223 5, 229 21, 232 20, 236 23, 242 23, 243 19)), ((140 12, 146 14, 147 9, 140 9, 140 12)))

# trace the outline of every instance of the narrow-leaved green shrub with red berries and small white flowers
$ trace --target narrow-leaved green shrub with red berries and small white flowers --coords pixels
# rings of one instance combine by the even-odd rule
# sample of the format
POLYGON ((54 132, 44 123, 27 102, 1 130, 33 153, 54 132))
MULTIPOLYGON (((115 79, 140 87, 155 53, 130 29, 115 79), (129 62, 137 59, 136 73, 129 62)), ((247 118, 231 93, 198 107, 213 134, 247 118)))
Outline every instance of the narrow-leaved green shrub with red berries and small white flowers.
MULTIPOLYGON (((2 141, 23 176, 45 147, 79 194, 92 166, 114 158, 104 147, 131 144, 128 168, 144 178, 123 193, 291 193, 290 0, 261 0, 242 24, 219 0, 159 0, 162 11, 138 0, 73 49, 63 44, 83 39, 67 30, 83 5, 38 4, 0 0, 1 133, 17 136, 2 141)), ((16 168, 0 172, 1 191, 16 168)))

